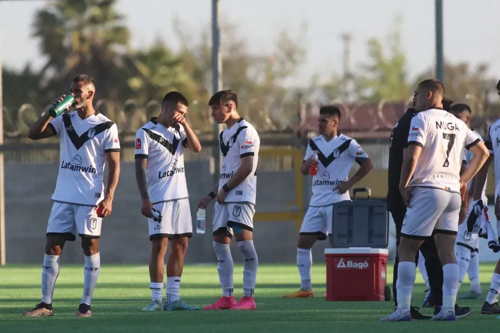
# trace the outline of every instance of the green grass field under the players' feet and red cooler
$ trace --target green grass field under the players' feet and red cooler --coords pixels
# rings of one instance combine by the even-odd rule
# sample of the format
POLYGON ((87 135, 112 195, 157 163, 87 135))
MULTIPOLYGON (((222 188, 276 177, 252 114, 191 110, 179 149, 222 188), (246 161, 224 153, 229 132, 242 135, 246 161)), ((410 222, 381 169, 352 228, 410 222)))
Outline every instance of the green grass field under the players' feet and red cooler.
MULTIPOLYGON (((390 266, 390 265, 389 265, 390 266)), ((489 287, 494 265, 481 265, 482 290, 489 287)), ((40 267, 7 266, 0 268, 0 332, 387 332, 405 330, 405 333, 422 330, 445 332, 486 332, 497 327, 496 316, 480 314, 483 300, 461 301, 471 306, 472 314, 454 323, 412 321, 410 323, 380 323, 379 319, 393 310, 391 302, 326 302, 325 267, 313 267, 315 298, 283 299, 282 295, 297 288, 298 273, 295 265, 261 265, 257 274, 255 301, 257 310, 193 311, 193 312, 141 312, 150 300, 149 279, 146 266, 103 265, 94 292, 93 317, 76 318, 81 299, 82 266, 62 265, 54 293, 54 316, 25 318, 21 313, 30 310, 40 300, 40 267), (437 327, 437 328, 436 328, 437 327)), ((236 266, 234 275, 236 297, 241 296, 242 267, 236 266)), ((388 268, 388 281, 392 269, 388 268)), ((468 282, 468 280, 465 278, 468 282)), ((460 292, 468 290, 464 283, 460 292)), ((421 276, 413 304, 420 306, 424 294, 421 276)), ((220 296, 215 265, 187 266, 184 268, 180 296, 190 304, 200 307, 212 303, 220 296)), ((423 309, 431 314, 432 309, 423 309)))

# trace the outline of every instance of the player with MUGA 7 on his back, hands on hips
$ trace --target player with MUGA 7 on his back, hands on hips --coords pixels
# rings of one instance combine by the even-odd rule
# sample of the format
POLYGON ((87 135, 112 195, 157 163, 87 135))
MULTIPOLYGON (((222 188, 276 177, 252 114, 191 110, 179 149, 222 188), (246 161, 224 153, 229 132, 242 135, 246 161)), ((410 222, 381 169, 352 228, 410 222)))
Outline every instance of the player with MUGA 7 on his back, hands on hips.
POLYGON ((454 321, 458 290, 458 265, 454 243, 458 215, 468 181, 488 153, 467 126, 442 109, 444 87, 438 80, 420 82, 415 108, 423 110, 411 119, 399 189, 408 207, 397 248, 397 308, 381 321, 411 321, 410 302, 415 282, 415 256, 425 238, 434 236, 442 265, 442 307, 431 320, 454 321), (460 176, 463 149, 474 157, 460 176), (461 197, 460 197, 461 194, 461 197))

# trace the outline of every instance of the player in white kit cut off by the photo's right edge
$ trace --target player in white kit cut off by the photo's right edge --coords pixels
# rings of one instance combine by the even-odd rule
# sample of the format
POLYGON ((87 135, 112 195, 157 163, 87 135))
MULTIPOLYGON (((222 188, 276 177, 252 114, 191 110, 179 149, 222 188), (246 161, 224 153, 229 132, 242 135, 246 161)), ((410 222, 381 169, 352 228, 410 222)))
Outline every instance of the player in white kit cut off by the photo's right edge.
MULTIPOLYGON (((500 80, 496 84, 496 90, 500 96, 500 80)), ((490 157, 484 163, 481 171, 476 177, 476 187, 481 187, 486 182, 487 169, 491 163, 494 161, 494 177, 495 177, 495 196, 494 196, 494 213, 496 220, 500 220, 500 119, 489 126, 488 132, 486 133, 486 138, 484 144, 488 147, 490 157)), ((476 191, 479 192, 479 191, 476 191)), ((474 193, 477 195, 477 193, 474 193)), ((480 197, 474 197, 473 200, 478 200, 480 197)), ((481 308, 481 314, 483 315, 498 315, 500 314, 500 306, 498 306, 498 297, 500 297, 500 260, 496 263, 493 275, 491 276, 491 284, 489 285, 489 291, 486 295, 486 300, 481 308)))

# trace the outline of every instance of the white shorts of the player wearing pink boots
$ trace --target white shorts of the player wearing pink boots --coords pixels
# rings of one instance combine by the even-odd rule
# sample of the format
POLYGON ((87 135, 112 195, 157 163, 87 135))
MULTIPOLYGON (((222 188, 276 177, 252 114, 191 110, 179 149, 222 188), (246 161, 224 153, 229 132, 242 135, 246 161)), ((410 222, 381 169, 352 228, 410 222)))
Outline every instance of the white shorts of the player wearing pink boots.
POLYGON ((246 229, 253 232, 253 215, 255 206, 247 203, 227 203, 213 205, 213 235, 225 233, 232 237, 233 229, 246 229))

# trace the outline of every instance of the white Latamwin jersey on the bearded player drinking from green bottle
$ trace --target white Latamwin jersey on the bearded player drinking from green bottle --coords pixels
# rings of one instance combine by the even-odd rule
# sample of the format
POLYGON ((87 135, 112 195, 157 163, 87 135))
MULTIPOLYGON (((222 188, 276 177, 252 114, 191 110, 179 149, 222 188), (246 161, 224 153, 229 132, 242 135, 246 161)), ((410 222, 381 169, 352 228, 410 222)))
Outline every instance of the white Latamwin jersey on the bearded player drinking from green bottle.
POLYGON ((105 153, 119 151, 116 125, 99 112, 81 119, 76 111, 49 122, 60 135, 60 165, 52 201, 95 206, 104 195, 105 153))

